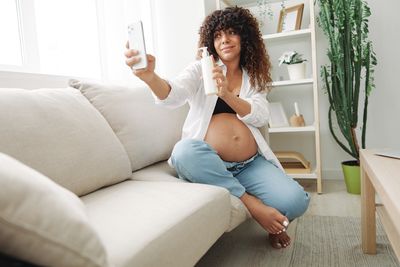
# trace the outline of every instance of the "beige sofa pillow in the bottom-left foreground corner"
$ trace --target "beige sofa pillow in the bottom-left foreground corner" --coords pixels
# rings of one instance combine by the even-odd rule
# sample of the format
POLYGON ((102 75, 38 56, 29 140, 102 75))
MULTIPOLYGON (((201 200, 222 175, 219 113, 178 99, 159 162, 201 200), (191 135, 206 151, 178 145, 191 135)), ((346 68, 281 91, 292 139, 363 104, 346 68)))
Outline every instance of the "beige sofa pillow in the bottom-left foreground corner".
POLYGON ((0 153, 0 251, 40 266, 109 266, 81 200, 0 153))

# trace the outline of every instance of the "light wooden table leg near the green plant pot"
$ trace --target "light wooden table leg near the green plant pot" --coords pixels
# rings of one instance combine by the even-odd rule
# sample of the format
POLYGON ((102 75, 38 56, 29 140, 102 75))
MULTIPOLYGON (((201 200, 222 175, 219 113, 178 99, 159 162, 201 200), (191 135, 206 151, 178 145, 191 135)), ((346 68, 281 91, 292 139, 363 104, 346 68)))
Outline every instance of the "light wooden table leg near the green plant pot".
POLYGON ((361 166, 361 238, 364 253, 376 254, 375 189, 361 166))

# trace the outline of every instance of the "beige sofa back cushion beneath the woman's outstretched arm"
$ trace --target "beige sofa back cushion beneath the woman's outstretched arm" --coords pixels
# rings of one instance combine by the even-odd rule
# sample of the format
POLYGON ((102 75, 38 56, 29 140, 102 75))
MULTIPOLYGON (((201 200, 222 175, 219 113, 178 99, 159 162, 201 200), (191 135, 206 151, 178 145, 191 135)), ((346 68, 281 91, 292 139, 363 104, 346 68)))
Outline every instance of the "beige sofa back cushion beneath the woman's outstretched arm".
POLYGON ((101 112, 124 145, 132 170, 166 160, 181 137, 188 107, 155 105, 148 87, 126 88, 71 80, 101 112))

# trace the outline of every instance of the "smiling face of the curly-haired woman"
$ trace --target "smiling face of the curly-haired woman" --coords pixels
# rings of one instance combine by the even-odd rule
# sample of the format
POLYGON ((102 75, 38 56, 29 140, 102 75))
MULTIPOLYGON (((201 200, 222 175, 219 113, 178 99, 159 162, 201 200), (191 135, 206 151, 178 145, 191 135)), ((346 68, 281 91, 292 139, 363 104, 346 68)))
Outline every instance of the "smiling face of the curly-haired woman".
POLYGON ((216 31, 214 47, 222 61, 240 59, 240 35, 233 29, 216 31))

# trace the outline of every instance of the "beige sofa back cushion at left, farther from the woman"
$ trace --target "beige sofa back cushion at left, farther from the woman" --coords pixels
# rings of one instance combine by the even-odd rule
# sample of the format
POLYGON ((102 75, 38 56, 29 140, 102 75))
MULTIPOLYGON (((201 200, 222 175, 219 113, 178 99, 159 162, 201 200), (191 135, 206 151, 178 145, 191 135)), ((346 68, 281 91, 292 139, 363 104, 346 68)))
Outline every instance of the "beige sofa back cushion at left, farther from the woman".
POLYGON ((121 142, 74 88, 1 88, 0 125, 0 151, 78 195, 131 175, 121 142))

